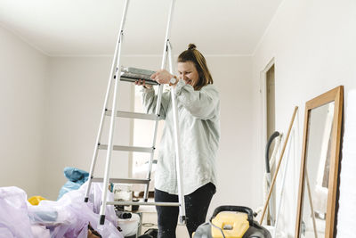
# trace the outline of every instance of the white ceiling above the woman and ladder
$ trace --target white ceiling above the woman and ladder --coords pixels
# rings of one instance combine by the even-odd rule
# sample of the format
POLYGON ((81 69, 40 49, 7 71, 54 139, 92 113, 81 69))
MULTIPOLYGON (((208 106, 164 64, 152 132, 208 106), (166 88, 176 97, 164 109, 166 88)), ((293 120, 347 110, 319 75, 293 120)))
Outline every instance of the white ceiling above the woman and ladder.
MULTIPOLYGON (((176 0, 174 53, 250 55, 282 0, 176 0)), ((0 24, 48 55, 114 51, 124 0, 0 0, 0 24)), ((124 54, 160 54, 170 0, 130 0, 124 54)))

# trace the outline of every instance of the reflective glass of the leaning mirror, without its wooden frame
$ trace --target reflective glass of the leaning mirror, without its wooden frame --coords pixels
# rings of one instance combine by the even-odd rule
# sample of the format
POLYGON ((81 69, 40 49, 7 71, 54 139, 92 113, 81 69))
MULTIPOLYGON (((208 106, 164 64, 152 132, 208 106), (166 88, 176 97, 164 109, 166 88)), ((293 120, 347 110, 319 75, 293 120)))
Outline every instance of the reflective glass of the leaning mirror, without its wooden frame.
POLYGON ((327 103, 308 116, 300 237, 325 237, 334 108, 327 103))

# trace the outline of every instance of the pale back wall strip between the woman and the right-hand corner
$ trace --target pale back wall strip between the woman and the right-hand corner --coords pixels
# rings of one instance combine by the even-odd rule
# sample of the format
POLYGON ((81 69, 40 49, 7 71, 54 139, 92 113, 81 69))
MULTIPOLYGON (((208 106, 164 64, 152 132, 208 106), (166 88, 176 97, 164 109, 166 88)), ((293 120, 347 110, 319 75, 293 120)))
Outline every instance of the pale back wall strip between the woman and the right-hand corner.
POLYGON ((217 193, 210 214, 219 205, 255 206, 252 167, 253 125, 251 57, 206 57, 220 93, 221 141, 217 155, 217 193))

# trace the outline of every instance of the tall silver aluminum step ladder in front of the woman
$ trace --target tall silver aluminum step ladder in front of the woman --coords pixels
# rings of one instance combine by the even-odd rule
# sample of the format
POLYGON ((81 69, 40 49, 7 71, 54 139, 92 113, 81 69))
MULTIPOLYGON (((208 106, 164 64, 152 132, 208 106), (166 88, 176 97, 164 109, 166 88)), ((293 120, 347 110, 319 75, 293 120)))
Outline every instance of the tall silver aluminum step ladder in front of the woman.
MULTIPOLYGON (((172 22, 172 15, 174 11, 174 3, 175 0, 172 0, 170 6, 170 12, 168 15, 167 26, 166 26, 166 39, 163 51, 162 65, 161 69, 166 69, 167 59, 169 62, 169 71, 174 74, 174 60, 172 47, 169 41, 170 37, 170 28, 172 22)), ((85 202, 89 200, 90 188, 93 182, 103 182, 103 193, 101 196, 101 209, 100 209, 100 225, 105 223, 105 209, 107 205, 153 205, 153 206, 176 206, 180 209, 179 222, 181 224, 185 223, 185 203, 184 203, 184 193, 182 191, 182 171, 181 171, 181 154, 180 154, 180 140, 179 140, 179 128, 178 128, 178 120, 177 120, 177 105, 174 97, 174 88, 171 88, 172 95, 172 106, 174 113, 174 149, 175 149, 175 159, 176 159, 176 170, 177 170, 177 185, 178 185, 178 202, 148 202, 148 194, 149 194, 149 185, 150 185, 150 176, 152 169, 152 161, 155 152, 156 139, 157 139, 157 131, 158 131, 158 120, 159 111, 161 106, 161 97, 163 92, 163 85, 158 86, 158 100, 155 114, 145 114, 145 113, 137 113, 137 112, 126 112, 126 111, 117 111, 117 92, 119 83, 123 81, 134 81, 134 77, 132 77, 132 73, 136 73, 138 69, 125 69, 120 62, 121 58, 121 49, 124 39, 124 28, 125 28, 125 19, 127 14, 129 0, 125 0, 124 12, 121 20, 120 31, 117 37, 117 45, 115 48, 114 59, 111 66, 111 71, 109 75, 109 83, 108 88, 105 95, 105 103, 101 113, 101 122, 99 126, 98 135, 96 137, 96 142, 94 146, 93 152, 93 160, 90 168, 90 176, 88 179, 88 186, 85 192, 85 202), (118 70, 119 69, 119 70, 118 70), (135 71, 136 70, 136 71, 135 71), (131 74, 130 74, 131 73, 131 74), (113 98, 112 98, 112 109, 108 109, 109 102, 109 94, 111 91, 111 86, 114 84, 113 90, 113 98), (114 111, 114 113, 113 113, 114 111), (101 144, 101 134, 105 117, 110 118, 109 124, 109 141, 108 144, 101 144), (122 146, 122 145, 114 145, 113 144, 113 136, 114 136, 114 126, 116 118, 129 118, 129 119, 149 119, 155 121, 155 129, 152 140, 152 147, 137 147, 137 146, 122 146), (107 150, 106 154, 106 163, 105 163, 105 175, 103 178, 94 177, 94 168, 96 164, 96 160, 98 157, 99 150, 107 150), (146 179, 132 179, 132 178, 109 178, 109 168, 111 161, 111 152, 112 151, 125 151, 125 152, 147 152, 150 153, 150 163, 149 163, 149 171, 147 173, 146 179), (145 185, 145 191, 143 195, 143 201, 107 201, 108 195, 108 187, 110 183, 125 183, 125 184, 143 184, 145 185)))

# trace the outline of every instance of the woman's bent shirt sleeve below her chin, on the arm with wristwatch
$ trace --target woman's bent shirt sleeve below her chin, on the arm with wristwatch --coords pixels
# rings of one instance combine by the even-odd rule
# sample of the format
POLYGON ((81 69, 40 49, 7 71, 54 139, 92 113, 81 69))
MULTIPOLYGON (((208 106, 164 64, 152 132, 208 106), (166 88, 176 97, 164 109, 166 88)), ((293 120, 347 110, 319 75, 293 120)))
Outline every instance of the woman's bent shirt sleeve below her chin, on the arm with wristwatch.
POLYGON ((197 119, 212 119, 219 104, 219 93, 213 85, 203 86, 195 91, 193 86, 180 80, 175 87, 177 100, 197 119))

